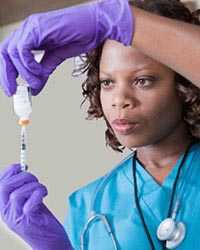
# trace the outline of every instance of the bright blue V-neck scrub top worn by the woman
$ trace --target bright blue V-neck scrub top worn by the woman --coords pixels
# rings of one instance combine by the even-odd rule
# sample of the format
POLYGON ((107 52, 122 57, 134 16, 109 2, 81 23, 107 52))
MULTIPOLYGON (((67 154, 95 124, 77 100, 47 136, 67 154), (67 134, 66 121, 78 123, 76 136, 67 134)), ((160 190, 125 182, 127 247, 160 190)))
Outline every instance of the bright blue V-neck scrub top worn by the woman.
MULTIPOLYGON (((119 163, 116 172, 101 189, 96 201, 97 212, 105 214, 115 234, 119 249, 141 250, 150 249, 141 219, 134 201, 132 154, 119 163)), ((172 186, 177 174, 181 155, 165 178, 162 185, 136 161, 136 176, 138 196, 145 222, 153 239, 156 250, 162 250, 161 243, 156 237, 157 227, 167 217, 172 186)), ((91 200, 99 183, 98 180, 81 188, 70 195, 69 211, 64 227, 69 235, 74 249, 80 249, 80 235, 85 223, 90 217, 91 200)), ((200 249, 200 142, 195 143, 189 151, 185 164, 182 166, 178 181, 176 197, 181 199, 176 217, 186 225, 186 237, 176 248, 180 250, 200 249)), ((100 221, 91 224, 87 233, 89 250, 113 250, 111 238, 100 221)))

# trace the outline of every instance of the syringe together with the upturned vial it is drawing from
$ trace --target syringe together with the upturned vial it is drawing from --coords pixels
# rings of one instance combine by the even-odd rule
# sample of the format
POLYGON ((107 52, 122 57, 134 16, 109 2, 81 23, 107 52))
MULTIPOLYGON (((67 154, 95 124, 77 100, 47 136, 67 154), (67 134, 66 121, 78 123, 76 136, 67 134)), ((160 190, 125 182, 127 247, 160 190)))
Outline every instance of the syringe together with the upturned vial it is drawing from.
POLYGON ((21 126, 20 135, 20 165, 22 171, 28 169, 26 162, 27 155, 27 132, 26 127, 30 123, 30 114, 32 112, 32 102, 30 88, 25 85, 18 85, 16 94, 13 95, 14 111, 19 117, 18 124, 21 126))

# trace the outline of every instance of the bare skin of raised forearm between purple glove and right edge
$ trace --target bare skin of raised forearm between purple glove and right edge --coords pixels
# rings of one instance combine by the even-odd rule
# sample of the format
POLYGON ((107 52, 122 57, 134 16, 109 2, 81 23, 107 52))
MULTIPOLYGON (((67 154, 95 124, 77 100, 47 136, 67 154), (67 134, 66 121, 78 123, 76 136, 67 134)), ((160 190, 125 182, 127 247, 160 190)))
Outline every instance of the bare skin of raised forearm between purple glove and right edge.
POLYGON ((131 8, 135 16, 132 46, 200 88, 200 26, 131 8))

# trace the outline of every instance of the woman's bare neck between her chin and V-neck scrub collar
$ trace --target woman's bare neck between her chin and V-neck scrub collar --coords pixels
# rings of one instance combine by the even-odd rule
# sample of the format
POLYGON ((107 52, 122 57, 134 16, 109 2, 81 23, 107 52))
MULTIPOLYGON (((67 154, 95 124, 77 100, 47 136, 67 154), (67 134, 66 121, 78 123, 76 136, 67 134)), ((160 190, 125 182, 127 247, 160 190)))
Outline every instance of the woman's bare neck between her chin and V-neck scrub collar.
POLYGON ((172 166, 191 143, 184 123, 166 138, 137 148, 137 157, 148 169, 172 166))

